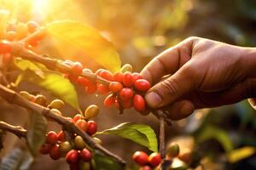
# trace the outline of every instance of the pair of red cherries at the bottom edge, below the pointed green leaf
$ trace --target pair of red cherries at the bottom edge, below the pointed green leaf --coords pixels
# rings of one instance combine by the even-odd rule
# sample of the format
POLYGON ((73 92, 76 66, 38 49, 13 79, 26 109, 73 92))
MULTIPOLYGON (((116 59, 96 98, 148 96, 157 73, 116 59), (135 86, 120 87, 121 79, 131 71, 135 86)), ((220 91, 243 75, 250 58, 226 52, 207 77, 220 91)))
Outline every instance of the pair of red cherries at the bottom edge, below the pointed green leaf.
POLYGON ((132 160, 141 167, 140 170, 151 170, 158 167, 162 161, 159 153, 154 152, 148 156, 148 154, 143 151, 136 151, 132 156, 132 160))

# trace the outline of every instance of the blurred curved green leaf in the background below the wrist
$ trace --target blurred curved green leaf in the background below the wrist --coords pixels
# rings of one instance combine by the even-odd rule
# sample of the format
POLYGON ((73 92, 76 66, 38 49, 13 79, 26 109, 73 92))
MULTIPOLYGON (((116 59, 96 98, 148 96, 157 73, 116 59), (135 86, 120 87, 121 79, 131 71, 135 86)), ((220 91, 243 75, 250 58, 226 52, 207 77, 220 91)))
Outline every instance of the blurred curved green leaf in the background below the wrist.
POLYGON ((204 127, 201 130, 201 133, 198 134, 197 140, 198 142, 203 142, 208 139, 216 139, 220 144, 222 144, 224 150, 227 152, 233 150, 233 144, 228 133, 221 128, 214 127, 212 125, 204 127))

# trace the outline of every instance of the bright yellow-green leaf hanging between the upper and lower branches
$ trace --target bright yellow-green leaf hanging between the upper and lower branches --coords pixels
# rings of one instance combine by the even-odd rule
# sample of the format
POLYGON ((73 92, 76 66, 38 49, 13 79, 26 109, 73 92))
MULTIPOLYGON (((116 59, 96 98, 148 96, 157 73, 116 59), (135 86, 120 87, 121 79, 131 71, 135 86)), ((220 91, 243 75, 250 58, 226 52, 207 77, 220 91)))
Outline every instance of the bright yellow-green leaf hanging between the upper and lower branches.
POLYGON ((77 111, 80 111, 78 94, 73 87, 73 84, 61 75, 44 71, 44 78, 40 78, 33 74, 32 71, 25 71, 22 73, 20 80, 26 80, 37 84, 63 100, 68 105, 73 106, 77 111))

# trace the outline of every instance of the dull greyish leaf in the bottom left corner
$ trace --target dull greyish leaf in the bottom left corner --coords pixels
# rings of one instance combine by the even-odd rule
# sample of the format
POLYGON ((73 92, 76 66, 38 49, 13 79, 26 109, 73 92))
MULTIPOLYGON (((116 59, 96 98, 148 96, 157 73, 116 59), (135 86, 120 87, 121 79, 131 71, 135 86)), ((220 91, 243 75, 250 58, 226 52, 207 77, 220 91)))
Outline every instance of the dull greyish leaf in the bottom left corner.
POLYGON ((8 156, 3 157, 0 164, 1 170, 26 170, 33 161, 32 155, 20 149, 13 150, 8 156))

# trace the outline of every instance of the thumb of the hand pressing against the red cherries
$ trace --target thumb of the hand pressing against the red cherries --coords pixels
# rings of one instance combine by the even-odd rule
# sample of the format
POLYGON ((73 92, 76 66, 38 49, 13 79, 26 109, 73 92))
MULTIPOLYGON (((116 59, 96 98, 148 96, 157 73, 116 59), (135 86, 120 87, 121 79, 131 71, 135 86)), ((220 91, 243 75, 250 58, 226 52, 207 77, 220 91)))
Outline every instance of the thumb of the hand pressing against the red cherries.
POLYGON ((191 72, 181 68, 171 77, 158 82, 145 95, 147 104, 151 108, 159 108, 175 102, 184 94, 195 88, 195 78, 191 72))

